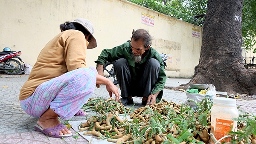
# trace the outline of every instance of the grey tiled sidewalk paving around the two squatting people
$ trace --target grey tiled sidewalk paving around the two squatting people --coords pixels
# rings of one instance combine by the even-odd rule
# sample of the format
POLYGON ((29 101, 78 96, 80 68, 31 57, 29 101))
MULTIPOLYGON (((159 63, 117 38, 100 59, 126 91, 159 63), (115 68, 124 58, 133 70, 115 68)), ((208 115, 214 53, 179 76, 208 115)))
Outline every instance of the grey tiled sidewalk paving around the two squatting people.
MULTIPOLYGON (((22 85, 27 80, 28 75, 0 75, 0 144, 89 144, 89 142, 79 136, 79 138, 52 138, 41 132, 35 131, 34 124, 37 118, 34 118, 20 107, 18 101, 19 92, 22 85)), ((186 84, 190 79, 167 79, 166 86, 179 86, 186 84)), ((119 92, 120 89, 119 89, 119 92)), ((163 90, 163 98, 167 101, 173 101, 181 104, 186 101, 186 93, 163 90)), ((105 86, 96 88, 92 98, 109 98, 105 86)), ((134 97, 135 107, 144 107, 141 105, 141 98, 134 97)), ((237 101, 237 104, 246 112, 256 112, 256 101, 237 101)), ((128 106, 130 107, 130 106, 128 106)), ((73 121, 81 121, 86 117, 73 117, 73 121)), ((63 120, 61 120, 63 122, 63 120)), ((73 135, 78 135, 73 129, 70 129, 73 135)))

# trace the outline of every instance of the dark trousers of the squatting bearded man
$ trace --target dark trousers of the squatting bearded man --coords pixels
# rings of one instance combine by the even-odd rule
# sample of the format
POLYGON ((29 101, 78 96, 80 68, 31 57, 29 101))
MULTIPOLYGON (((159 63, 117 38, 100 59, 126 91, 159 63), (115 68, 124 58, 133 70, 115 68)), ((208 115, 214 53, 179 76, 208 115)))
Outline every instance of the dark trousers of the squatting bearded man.
POLYGON ((127 60, 120 58, 114 64, 116 79, 121 89, 121 97, 130 95, 137 97, 148 97, 154 89, 160 73, 159 61, 151 58, 145 66, 137 72, 137 79, 132 80, 127 60))

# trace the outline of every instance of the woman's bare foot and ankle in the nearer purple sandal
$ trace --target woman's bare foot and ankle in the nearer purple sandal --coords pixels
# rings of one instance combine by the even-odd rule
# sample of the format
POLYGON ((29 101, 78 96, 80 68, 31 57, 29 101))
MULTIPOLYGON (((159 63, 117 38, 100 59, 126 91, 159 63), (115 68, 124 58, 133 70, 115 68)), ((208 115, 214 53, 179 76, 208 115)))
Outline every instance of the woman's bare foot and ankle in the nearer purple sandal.
MULTIPOLYGON (((41 115, 41 117, 38 119, 37 124, 42 127, 43 129, 47 129, 50 127, 55 127, 58 124, 61 124, 61 122, 58 120, 58 114, 53 112, 52 109, 48 109, 46 112, 41 115)), ((62 129, 59 131, 59 135, 67 135, 70 134, 71 131, 67 128, 62 129)), ((51 135, 52 132, 49 133, 51 135)))

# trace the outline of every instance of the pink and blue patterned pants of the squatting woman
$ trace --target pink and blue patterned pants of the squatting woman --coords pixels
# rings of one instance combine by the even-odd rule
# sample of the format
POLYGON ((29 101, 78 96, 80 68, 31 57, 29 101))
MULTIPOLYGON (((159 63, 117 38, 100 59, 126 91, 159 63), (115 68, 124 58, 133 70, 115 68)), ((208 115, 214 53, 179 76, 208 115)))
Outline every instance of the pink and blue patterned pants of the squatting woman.
POLYGON ((40 84, 29 98, 20 101, 20 105, 36 118, 50 107, 61 118, 69 120, 93 94, 96 73, 93 67, 67 72, 40 84))

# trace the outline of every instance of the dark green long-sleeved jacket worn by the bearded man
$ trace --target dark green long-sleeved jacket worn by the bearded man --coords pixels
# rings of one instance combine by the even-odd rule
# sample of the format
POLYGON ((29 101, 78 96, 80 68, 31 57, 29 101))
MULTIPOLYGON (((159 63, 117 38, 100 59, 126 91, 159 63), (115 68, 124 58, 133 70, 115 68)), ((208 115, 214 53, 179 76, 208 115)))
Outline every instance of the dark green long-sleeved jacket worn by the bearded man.
POLYGON ((148 49, 147 55, 142 59, 140 63, 134 63, 134 61, 131 59, 131 42, 126 42, 120 46, 116 46, 112 49, 103 49, 102 53, 99 55, 98 59, 95 61, 95 63, 105 65, 105 63, 113 62, 118 60, 119 58, 125 58, 128 62, 129 69, 131 72, 131 78, 133 81, 136 81, 137 79, 137 73, 141 72, 142 66, 145 66, 145 63, 150 58, 155 58, 160 63, 160 74, 157 79, 157 83, 154 86, 154 90, 151 94, 155 94, 161 90, 163 90, 163 87, 166 83, 166 73, 164 71, 164 65, 163 60, 160 56, 160 54, 150 47, 148 49), (137 72, 137 73, 136 73, 137 72))

